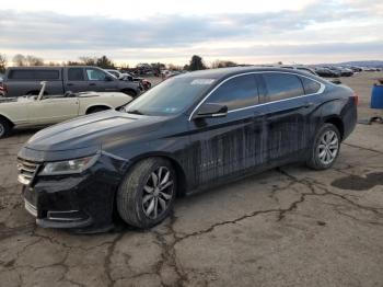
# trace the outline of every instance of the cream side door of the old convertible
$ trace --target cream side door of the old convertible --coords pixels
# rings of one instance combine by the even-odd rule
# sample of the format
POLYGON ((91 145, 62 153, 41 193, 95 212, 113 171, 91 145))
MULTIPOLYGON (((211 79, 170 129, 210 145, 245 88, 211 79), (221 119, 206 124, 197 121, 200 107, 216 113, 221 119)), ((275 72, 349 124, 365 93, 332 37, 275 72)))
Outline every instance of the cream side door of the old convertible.
POLYGON ((28 122, 31 124, 57 124, 78 115, 78 97, 46 97, 36 100, 28 105, 28 122))

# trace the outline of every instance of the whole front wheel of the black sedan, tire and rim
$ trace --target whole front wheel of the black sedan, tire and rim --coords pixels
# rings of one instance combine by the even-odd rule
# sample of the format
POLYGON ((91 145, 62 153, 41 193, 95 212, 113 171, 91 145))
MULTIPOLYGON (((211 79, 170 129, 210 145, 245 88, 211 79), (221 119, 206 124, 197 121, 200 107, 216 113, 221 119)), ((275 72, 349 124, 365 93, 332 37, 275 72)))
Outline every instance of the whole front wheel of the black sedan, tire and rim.
POLYGON ((126 223, 141 229, 160 223, 172 211, 176 184, 176 173, 167 160, 149 158, 138 162, 125 176, 117 191, 116 204, 119 216, 126 223), (161 179, 158 182, 164 183, 162 186, 155 184, 153 173, 156 179, 161 179), (169 186, 163 188, 165 185, 169 186))

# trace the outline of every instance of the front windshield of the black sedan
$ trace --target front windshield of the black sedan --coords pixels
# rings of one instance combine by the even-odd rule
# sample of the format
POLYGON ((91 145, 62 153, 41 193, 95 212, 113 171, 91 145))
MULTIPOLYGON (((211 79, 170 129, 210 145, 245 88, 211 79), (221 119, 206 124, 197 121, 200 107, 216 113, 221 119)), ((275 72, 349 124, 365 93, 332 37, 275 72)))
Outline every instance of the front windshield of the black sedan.
POLYGON ((175 77, 155 85, 125 106, 125 112, 142 115, 174 115, 184 112, 214 79, 175 77))

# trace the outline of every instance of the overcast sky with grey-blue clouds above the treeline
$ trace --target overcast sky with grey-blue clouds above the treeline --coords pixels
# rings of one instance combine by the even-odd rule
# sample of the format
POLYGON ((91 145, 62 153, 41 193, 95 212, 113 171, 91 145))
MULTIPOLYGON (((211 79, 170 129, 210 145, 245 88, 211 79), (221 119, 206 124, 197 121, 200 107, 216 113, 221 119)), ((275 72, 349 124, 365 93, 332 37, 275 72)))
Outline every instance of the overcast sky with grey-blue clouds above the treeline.
POLYGON ((3 1, 0 53, 130 65, 183 65, 194 54, 208 64, 383 59, 383 1, 3 1))

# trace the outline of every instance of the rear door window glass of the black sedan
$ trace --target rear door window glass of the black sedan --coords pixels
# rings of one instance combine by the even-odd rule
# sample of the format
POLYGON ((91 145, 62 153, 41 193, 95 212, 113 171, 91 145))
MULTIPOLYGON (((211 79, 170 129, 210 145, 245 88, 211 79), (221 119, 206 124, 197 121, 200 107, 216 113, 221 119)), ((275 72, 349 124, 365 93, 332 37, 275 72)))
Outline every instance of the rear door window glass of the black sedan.
POLYGON ((303 87, 300 79, 290 73, 264 73, 268 101, 279 101, 303 95, 303 87))

